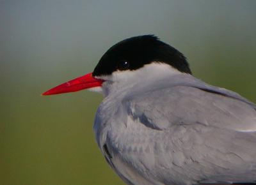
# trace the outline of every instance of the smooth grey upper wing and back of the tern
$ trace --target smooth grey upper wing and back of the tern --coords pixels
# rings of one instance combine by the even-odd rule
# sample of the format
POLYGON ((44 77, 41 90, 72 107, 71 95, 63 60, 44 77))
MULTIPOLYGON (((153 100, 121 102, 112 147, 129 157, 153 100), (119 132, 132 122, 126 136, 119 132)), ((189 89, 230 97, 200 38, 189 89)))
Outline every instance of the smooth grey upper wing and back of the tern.
POLYGON ((154 129, 204 124, 256 131, 256 106, 251 101, 191 75, 159 81, 153 89, 144 88, 143 92, 130 94, 124 103, 129 115, 154 129))

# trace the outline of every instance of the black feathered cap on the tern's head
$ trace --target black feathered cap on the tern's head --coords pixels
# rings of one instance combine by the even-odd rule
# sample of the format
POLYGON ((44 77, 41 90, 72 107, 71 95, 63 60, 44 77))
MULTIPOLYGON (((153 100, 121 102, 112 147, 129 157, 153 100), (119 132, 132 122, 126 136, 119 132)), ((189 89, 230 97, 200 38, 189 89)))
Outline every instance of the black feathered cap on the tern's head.
POLYGON ((114 71, 137 70, 152 62, 166 63, 180 72, 189 73, 186 57, 154 35, 120 41, 109 48, 93 71, 93 76, 111 75, 114 71))

